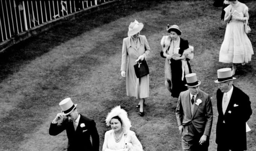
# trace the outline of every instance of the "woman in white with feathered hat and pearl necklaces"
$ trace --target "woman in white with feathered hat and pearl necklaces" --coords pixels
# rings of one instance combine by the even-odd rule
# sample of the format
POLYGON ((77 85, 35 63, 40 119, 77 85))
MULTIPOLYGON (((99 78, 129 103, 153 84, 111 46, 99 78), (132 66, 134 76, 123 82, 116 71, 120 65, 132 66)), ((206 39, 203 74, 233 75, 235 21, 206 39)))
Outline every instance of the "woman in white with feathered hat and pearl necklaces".
POLYGON ((143 151, 140 141, 132 127, 127 112, 120 106, 114 107, 106 117, 106 125, 111 130, 106 131, 102 151, 143 151))

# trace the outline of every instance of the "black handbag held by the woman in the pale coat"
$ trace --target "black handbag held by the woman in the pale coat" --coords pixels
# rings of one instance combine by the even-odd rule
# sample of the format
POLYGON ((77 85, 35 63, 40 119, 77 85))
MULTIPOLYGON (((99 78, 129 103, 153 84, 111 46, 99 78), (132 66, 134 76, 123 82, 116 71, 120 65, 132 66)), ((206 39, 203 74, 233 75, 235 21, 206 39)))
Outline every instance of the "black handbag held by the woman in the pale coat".
POLYGON ((147 61, 142 60, 138 61, 136 65, 134 65, 134 70, 137 78, 141 78, 145 75, 149 74, 149 66, 147 66, 147 61))

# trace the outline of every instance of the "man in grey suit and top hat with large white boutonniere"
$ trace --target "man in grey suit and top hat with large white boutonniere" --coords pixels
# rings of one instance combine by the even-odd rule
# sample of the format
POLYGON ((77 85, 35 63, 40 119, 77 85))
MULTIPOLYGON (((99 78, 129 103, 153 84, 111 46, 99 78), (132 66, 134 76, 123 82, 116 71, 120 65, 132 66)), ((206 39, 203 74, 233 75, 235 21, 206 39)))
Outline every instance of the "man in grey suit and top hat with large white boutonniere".
POLYGON ((188 90, 180 93, 176 108, 184 151, 208 151, 213 123, 210 96, 199 89, 195 73, 185 75, 188 90))

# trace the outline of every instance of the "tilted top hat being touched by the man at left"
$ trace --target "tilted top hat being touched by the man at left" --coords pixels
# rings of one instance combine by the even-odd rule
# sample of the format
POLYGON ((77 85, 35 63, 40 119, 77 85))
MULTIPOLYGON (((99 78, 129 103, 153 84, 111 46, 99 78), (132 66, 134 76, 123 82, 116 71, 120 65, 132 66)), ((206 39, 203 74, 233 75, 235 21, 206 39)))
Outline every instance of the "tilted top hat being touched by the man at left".
POLYGON ((77 106, 77 104, 74 104, 71 100, 71 98, 65 98, 59 103, 62 113, 66 116, 70 114, 77 106))

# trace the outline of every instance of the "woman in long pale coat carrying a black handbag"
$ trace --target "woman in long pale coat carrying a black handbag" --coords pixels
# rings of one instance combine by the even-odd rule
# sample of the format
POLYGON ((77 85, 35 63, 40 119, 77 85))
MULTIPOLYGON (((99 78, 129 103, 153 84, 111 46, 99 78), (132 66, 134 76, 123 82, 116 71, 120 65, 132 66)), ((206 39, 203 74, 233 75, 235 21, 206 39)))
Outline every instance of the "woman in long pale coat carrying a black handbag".
POLYGON ((149 74, 137 78, 134 70, 136 60, 146 60, 150 53, 149 43, 146 36, 140 35, 143 24, 138 21, 131 22, 129 25, 128 37, 123 39, 121 76, 126 76, 127 96, 139 99, 139 115, 144 116, 145 98, 149 97, 149 74))

